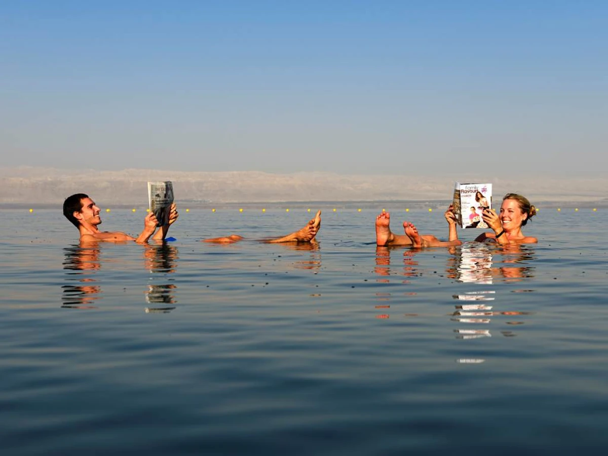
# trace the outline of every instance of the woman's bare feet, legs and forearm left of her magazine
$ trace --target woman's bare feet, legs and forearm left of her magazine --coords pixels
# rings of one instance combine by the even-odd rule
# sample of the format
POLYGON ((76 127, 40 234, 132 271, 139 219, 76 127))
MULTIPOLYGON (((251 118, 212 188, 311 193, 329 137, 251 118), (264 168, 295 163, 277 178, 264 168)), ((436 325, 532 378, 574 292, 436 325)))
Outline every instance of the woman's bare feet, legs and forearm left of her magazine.
POLYGON ((444 216, 447 221, 447 241, 440 241, 432 234, 420 235, 412 223, 405 221, 403 229, 405 234, 395 234, 390 230, 390 213, 382 212, 376 217, 376 244, 378 246, 412 246, 412 247, 452 247, 460 246, 456 231, 456 218, 450 205, 444 216))

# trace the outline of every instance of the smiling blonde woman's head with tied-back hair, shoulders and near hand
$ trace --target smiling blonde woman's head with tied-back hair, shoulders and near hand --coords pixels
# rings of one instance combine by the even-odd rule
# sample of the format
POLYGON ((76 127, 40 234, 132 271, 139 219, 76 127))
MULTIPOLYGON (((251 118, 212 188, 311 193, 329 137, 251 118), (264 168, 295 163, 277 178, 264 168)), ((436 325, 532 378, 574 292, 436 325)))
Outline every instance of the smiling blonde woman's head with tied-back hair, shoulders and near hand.
POLYGON ((486 209, 482 213, 482 219, 494 230, 493 233, 482 233, 475 241, 483 242, 492 239, 499 244, 529 244, 536 243, 536 238, 525 236, 522 226, 528 223, 530 217, 536 215, 536 207, 530 204, 528 198, 507 193, 502 199, 500 215, 494 209, 486 209))

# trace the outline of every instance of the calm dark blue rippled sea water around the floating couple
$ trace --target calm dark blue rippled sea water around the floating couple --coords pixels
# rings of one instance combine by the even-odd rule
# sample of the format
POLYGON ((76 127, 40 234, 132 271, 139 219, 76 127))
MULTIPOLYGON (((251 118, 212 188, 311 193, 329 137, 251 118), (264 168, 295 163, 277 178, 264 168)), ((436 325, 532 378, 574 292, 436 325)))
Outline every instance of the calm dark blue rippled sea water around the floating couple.
MULTIPOLYGON (((416 251, 376 247, 373 205, 323 206, 314 248, 198 242, 303 207, 180 209, 146 247, 2 212, 0 454, 605 451, 606 210, 541 209, 513 251, 416 251)), ((441 210, 385 209, 446 235, 441 210)), ((103 219, 137 234, 143 212, 103 219)))

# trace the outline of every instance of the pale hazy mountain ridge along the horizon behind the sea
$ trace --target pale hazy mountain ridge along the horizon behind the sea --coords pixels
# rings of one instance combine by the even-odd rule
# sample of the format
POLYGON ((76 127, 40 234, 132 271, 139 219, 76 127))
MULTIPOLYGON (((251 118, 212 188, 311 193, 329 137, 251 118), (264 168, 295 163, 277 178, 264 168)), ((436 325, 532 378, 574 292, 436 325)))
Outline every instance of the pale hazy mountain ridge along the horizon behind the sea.
POLYGON ((599 201, 606 178, 506 180, 492 176, 345 175, 325 171, 274 174, 263 171, 120 171, 0 168, 3 204, 61 204, 87 193, 103 204, 147 202, 148 181, 173 181, 176 199, 193 202, 447 200, 454 181, 492 182, 494 194, 519 192, 531 201, 599 201), (469 178, 469 179, 467 179, 469 178))

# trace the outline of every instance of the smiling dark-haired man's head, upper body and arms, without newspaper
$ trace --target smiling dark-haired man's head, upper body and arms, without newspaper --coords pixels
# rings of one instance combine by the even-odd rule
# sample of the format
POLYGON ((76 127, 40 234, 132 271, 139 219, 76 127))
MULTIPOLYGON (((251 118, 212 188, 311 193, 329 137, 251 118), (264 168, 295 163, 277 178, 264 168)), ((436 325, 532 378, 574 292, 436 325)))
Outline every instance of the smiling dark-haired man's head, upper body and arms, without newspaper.
POLYGON ((101 210, 95 206, 95 201, 89 198, 88 195, 85 195, 85 193, 76 193, 75 195, 68 196, 66 201, 63 202, 63 215, 78 228, 81 241, 136 241, 139 244, 147 243, 150 238, 162 241, 167 237, 169 226, 179 216, 178 209, 173 203, 171 205, 171 212, 169 213, 168 225, 162 226, 156 231, 156 216, 154 216, 153 212, 148 212, 148 215, 143 219, 143 231, 137 238, 134 238, 120 231, 100 231, 98 229, 98 226, 102 223, 100 212, 101 210))

